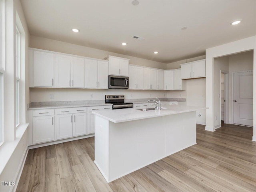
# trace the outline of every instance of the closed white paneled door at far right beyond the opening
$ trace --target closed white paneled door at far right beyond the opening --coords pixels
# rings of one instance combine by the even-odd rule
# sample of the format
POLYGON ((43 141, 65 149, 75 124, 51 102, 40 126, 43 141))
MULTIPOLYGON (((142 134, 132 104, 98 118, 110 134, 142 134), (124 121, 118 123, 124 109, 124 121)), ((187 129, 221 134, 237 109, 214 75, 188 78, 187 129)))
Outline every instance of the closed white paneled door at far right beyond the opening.
POLYGON ((253 126, 253 72, 234 73, 234 124, 253 126))

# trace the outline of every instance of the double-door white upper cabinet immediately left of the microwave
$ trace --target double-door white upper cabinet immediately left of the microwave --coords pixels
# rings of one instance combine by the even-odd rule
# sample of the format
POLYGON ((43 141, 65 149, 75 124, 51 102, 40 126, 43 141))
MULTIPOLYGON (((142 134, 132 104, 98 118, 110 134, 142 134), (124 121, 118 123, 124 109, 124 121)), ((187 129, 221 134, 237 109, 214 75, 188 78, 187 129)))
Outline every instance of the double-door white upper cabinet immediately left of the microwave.
POLYGON ((85 60, 85 87, 108 88, 108 62, 85 60))

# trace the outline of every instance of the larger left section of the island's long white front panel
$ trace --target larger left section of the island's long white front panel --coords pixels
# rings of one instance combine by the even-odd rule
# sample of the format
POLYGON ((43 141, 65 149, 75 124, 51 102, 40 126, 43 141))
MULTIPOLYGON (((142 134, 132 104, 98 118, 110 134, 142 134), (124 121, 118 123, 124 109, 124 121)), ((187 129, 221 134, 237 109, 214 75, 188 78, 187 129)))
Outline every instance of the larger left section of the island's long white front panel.
POLYGON ((164 116, 109 124, 109 181, 165 156, 164 116))

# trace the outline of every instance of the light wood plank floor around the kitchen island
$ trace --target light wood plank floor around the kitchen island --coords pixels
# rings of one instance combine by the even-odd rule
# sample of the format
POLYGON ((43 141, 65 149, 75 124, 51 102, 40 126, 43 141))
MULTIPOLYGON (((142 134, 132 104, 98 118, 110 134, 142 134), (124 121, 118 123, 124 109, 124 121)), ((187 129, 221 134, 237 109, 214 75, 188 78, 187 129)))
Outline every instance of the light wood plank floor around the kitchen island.
POLYGON ((17 191, 253 192, 252 128, 197 126, 197 144, 109 184, 93 163, 94 138, 29 150, 17 191))

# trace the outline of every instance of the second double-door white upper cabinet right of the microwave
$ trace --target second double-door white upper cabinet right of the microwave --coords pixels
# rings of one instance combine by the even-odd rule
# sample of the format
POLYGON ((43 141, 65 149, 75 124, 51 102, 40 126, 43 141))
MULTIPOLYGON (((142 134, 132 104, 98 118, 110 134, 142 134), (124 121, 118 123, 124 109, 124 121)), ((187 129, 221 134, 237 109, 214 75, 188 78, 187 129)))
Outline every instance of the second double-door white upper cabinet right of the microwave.
POLYGON ((157 70, 144 68, 144 89, 157 89, 157 70))

